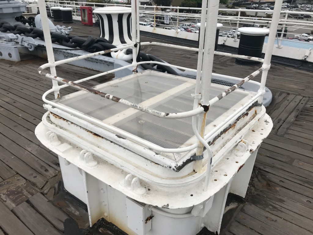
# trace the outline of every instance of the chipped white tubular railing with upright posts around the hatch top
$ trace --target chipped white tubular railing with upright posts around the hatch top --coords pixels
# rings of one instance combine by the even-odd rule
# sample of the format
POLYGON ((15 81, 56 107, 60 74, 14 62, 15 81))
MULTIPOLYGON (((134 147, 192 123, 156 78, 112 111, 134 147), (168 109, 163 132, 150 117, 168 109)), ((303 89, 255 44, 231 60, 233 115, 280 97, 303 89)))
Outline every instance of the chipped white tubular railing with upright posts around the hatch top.
MULTIPOLYGON (((67 3, 71 4, 73 2, 67 2, 67 3)), ((205 180, 206 183, 204 186, 204 191, 206 191, 208 189, 208 180, 209 180, 212 157, 213 157, 212 150, 211 150, 209 144, 207 143, 207 140, 213 133, 219 131, 222 128, 225 128, 229 124, 230 121, 236 119, 240 112, 245 110, 247 107, 249 107, 256 100, 258 101, 259 104, 262 104, 263 95, 265 93, 265 82, 266 82, 267 72, 268 72, 269 67, 270 67, 270 59, 271 59, 272 50, 273 50, 273 46, 274 46, 274 42, 275 42, 276 32, 275 32, 275 30, 271 30, 269 33, 269 39, 268 39, 268 44, 266 47, 266 53, 265 53, 264 60, 262 60, 260 58, 249 58, 247 56, 242 56, 242 55, 238 56, 238 55, 231 55, 229 53, 219 52, 218 54, 220 54, 220 55, 226 55, 226 56, 231 55, 233 57, 240 57, 240 58, 244 58, 244 59, 248 59, 248 60, 252 59, 252 60, 262 61, 263 65, 260 69, 254 71, 252 74, 250 74, 249 76, 244 78, 238 84, 234 85, 233 87, 229 88, 228 90, 226 90, 225 92, 221 93, 220 95, 214 97, 213 99, 209 99, 210 86, 211 86, 210 83, 211 83, 211 77, 213 75, 212 74, 212 64, 213 64, 213 54, 214 54, 213 52, 214 52, 214 44, 215 44, 215 34, 211 35, 210 32, 216 31, 217 11, 218 11, 219 1, 218 0, 211 0, 211 1, 203 1, 203 3, 204 4, 203 4, 202 12, 207 11, 207 15, 203 13, 201 15, 201 21, 207 22, 207 24, 205 24, 206 30, 200 31, 199 48, 198 49, 197 48, 195 49, 195 48, 182 47, 182 46, 173 46, 170 44, 163 44, 163 43, 156 43, 156 42, 141 43, 142 45, 152 44, 152 45, 160 45, 160 46, 177 47, 177 48, 181 48, 181 49, 185 49, 185 50, 194 50, 194 51, 198 51, 198 52, 203 51, 204 53, 198 53, 199 56, 198 56, 198 68, 197 68, 197 70, 193 70, 193 69, 189 69, 189 68, 185 68, 185 67, 181 67, 181 66, 169 65, 166 63, 156 62, 156 61, 136 62, 136 57, 138 54, 138 46, 135 47, 135 45, 139 44, 140 34, 139 34, 139 30, 136 30, 136 29, 139 29, 139 21, 137 20, 139 18, 138 17, 139 6, 138 6, 138 4, 135 5, 135 3, 132 3, 132 6, 131 6, 132 7, 132 16, 134 19, 134 20, 132 20, 132 29, 133 30, 132 30, 132 43, 131 44, 128 44, 125 46, 120 46, 120 47, 117 47, 117 48, 114 48, 111 50, 96 52, 96 53, 92 53, 89 55, 82 55, 82 56, 78 56, 78 57, 69 58, 66 60, 61 60, 61 61, 55 62, 53 49, 52 49, 52 43, 51 43, 51 39, 49 37, 49 35, 50 35, 49 27, 47 25, 45 25, 45 24, 48 24, 47 13, 45 11, 45 3, 44 3, 44 1, 39 1, 39 8, 40 8, 40 12, 42 13, 42 23, 43 23, 44 35, 46 35, 45 38, 47 39, 46 40, 46 48, 47 48, 47 55, 48 55, 48 63, 40 66, 38 69, 38 72, 39 72, 39 74, 41 74, 41 75, 43 75, 49 79, 52 79, 52 81, 53 81, 52 89, 45 92, 43 95, 44 102, 46 102, 46 103, 48 103, 54 107, 57 107, 60 110, 63 110, 64 112, 68 112, 68 113, 70 113, 70 114, 72 114, 78 118, 82 118, 82 119, 85 119, 85 120, 90 121, 92 123, 95 123, 95 124, 99 125, 100 127, 103 127, 107 130, 114 131, 115 133, 123 136, 124 138, 128 138, 132 141, 135 141, 136 143, 139 143, 139 144, 146 146, 147 148, 151 148, 151 149, 153 149, 155 151, 159 151, 159 152, 180 153, 180 152, 186 152, 186 151, 190 151, 190 150, 197 148, 196 155, 201 155, 201 154, 203 154, 203 146, 204 146, 207 149, 207 153, 208 153, 208 165, 207 165, 206 180, 205 180), (207 5, 207 3, 208 3, 208 5, 207 5), (216 15, 216 18, 214 17, 214 15, 216 15), (204 40, 204 38, 206 38, 206 40, 204 40), (84 78, 84 79, 81 79, 78 81, 68 81, 68 80, 65 80, 63 78, 56 76, 55 67, 57 65, 64 64, 64 63, 67 63, 67 62, 70 62, 73 60, 85 59, 85 58, 92 57, 95 55, 103 55, 105 53, 110 53, 113 51, 123 50, 123 49, 131 48, 131 47, 133 49, 132 50, 133 51, 133 62, 130 65, 124 66, 124 67, 119 68, 119 69, 114 69, 114 70, 110 70, 110 71, 107 71, 104 73, 100 73, 98 75, 89 76, 87 78, 84 78), (90 87, 82 86, 79 84, 82 81, 87 81, 87 80, 90 80, 92 78, 102 76, 102 75, 105 75, 108 73, 112 73, 112 72, 115 72, 115 71, 118 71, 121 69, 125 69, 128 67, 133 67, 134 70, 136 70, 138 65, 143 64, 143 63, 152 63, 152 62, 156 63, 156 64, 172 66, 175 68, 181 68, 184 70, 190 70, 190 71, 197 72, 195 94, 202 94, 202 95, 194 97, 195 101, 194 101, 193 110, 187 111, 187 112, 181 112, 181 113, 164 113, 164 112, 160 112, 160 111, 151 109, 149 107, 144 107, 144 106, 141 106, 139 104, 134 104, 134 103, 129 102, 127 100, 123 100, 123 99, 120 99, 118 97, 114 97, 110 94, 96 91, 90 87), (48 68, 48 67, 50 68, 50 74, 45 73, 43 71, 45 68, 48 68), (261 84, 260 84, 259 91, 254 95, 254 97, 252 97, 248 102, 246 102, 246 104, 244 104, 240 109, 233 112, 233 114, 231 114, 226 120, 224 120, 217 127, 215 127, 212 131, 210 131, 210 133, 205 134, 204 133, 205 128, 203 128, 203 127, 205 127, 206 112, 208 111, 208 107, 210 107, 211 105, 213 105, 216 102, 218 102, 219 100, 221 100, 228 93, 236 90, 239 86, 243 85, 245 82, 247 82, 250 79, 252 79, 253 77, 257 76, 260 72, 262 72, 261 84), (59 86, 58 82, 64 83, 64 85, 59 86), (110 99, 112 101, 122 103, 124 105, 129 106, 129 107, 135 108, 135 109, 140 110, 142 112, 146 112, 146 113, 149 113, 149 114, 161 117, 161 118, 177 119, 177 118, 192 117, 192 129, 193 129, 193 132, 194 132, 196 138, 198 139, 198 143, 192 144, 191 146, 188 146, 185 148, 178 148, 178 149, 162 148, 156 144, 148 142, 148 141, 141 139, 139 137, 133 136, 129 133, 126 133, 126 132, 118 129, 118 128, 112 127, 108 124, 105 124, 105 123, 99 121, 99 120, 92 119, 88 116, 85 116, 85 115, 75 111, 75 110, 72 110, 68 107, 64 107, 60 104, 57 104, 55 102, 51 102, 51 101, 46 99, 46 96, 50 92, 54 92, 55 98, 58 98, 59 97, 59 89, 62 89, 66 86, 74 86, 75 88, 78 88, 80 90, 92 92, 94 94, 100 95, 100 96, 105 97, 107 99, 110 99), (201 114, 201 117, 199 117, 199 121, 197 124, 195 116, 199 115, 199 114, 201 114)), ((279 25, 279 21, 280 21, 279 15, 280 15, 281 4, 282 4, 282 0, 278 0, 275 3, 273 19, 271 20, 271 26, 275 27, 275 28, 277 28, 277 26, 279 25)), ((173 7, 171 7, 171 8, 173 8, 173 7)), ((195 9, 198 9, 198 8, 195 8, 195 9)), ((195 165, 196 165, 195 167, 197 167, 197 165, 202 166, 202 160, 196 161, 195 165)))

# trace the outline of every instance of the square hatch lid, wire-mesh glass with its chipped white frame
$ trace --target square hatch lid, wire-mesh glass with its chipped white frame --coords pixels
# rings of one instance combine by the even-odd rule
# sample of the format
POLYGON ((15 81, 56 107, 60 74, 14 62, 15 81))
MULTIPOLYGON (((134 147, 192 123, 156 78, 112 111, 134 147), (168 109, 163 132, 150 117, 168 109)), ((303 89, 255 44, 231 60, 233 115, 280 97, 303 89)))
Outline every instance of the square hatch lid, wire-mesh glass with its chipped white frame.
MULTIPOLYGON (((193 98, 191 94, 194 92, 194 86, 195 80, 193 79, 147 70, 123 79, 100 84, 94 88, 162 112, 175 113, 192 110, 193 98)), ((223 85, 212 84, 212 97, 223 92, 225 88, 226 86, 223 85)), ((223 123, 234 111, 249 102, 254 95, 254 92, 236 90, 224 97, 218 102, 218 105, 210 107, 207 113, 205 132, 212 133, 206 136, 206 140, 212 145, 213 153, 221 149, 244 125, 249 123, 255 115, 255 110, 249 110, 254 104, 251 103, 250 108, 239 113, 236 119, 224 123, 224 128, 216 130, 216 132, 212 132, 212 130, 223 123), (240 118, 242 120, 239 122, 240 118)), ((116 130, 139 137, 163 148, 183 148, 197 142, 197 138, 192 131, 191 118, 174 120, 158 118, 85 91, 77 91, 53 102, 81 113, 89 118, 88 122, 90 120, 91 123, 92 120, 101 121, 116 130)), ((61 118, 82 125, 81 118, 67 115, 59 108, 51 105, 44 106, 61 118)), ((107 138, 156 164, 171 168, 174 171, 181 170, 190 162, 190 157, 195 154, 195 150, 182 153, 166 153, 149 149, 140 143, 136 143, 136 141, 124 138, 120 133, 117 134, 105 128, 102 128, 101 131, 97 128, 90 130, 88 122, 84 124, 85 126, 82 126, 86 130, 107 138), (147 152, 147 150, 149 151, 147 152)), ((62 122, 58 125, 63 126, 63 128, 68 127, 67 123, 62 125, 62 122)))

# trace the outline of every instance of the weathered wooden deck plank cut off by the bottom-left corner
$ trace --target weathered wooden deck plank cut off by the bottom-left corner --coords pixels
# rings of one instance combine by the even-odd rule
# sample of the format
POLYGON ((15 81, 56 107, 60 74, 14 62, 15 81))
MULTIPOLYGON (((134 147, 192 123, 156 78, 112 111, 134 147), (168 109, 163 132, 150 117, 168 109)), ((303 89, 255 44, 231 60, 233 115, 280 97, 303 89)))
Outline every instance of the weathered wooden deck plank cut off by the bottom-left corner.
POLYGON ((8 235, 34 235, 2 202, 0 211, 0 227, 8 235))

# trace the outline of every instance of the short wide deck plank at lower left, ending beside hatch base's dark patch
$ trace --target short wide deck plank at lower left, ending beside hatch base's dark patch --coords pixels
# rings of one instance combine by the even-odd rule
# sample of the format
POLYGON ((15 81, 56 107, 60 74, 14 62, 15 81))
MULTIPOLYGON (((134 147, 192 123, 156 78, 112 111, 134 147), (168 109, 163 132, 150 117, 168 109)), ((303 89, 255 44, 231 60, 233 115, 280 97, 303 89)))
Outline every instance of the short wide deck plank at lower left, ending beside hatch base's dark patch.
POLYGON ((48 201, 42 194, 37 193, 31 198, 28 199, 28 203, 35 208, 40 214, 45 217, 51 224, 54 225, 60 231, 64 231, 63 222, 69 218, 69 216, 54 206, 51 202, 48 201))

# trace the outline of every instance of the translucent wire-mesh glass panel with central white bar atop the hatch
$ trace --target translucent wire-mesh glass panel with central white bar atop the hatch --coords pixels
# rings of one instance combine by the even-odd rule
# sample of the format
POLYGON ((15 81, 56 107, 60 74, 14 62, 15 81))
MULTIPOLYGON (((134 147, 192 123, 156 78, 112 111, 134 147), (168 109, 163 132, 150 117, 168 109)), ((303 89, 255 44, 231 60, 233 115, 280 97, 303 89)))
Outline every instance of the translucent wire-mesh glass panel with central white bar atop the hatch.
MULTIPOLYGON (((150 71, 101 84, 96 89, 161 112, 177 113, 192 110, 195 80, 150 71)), ((212 84, 210 98, 226 89, 227 86, 212 84)), ((225 120, 239 102, 251 97, 250 93, 234 91, 210 107, 207 125, 225 120)), ((194 135, 191 118, 158 118, 84 91, 56 102, 165 148, 179 148, 194 135)))

